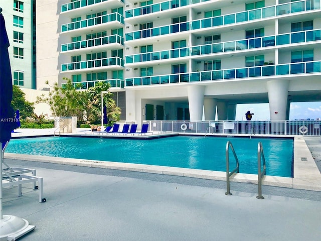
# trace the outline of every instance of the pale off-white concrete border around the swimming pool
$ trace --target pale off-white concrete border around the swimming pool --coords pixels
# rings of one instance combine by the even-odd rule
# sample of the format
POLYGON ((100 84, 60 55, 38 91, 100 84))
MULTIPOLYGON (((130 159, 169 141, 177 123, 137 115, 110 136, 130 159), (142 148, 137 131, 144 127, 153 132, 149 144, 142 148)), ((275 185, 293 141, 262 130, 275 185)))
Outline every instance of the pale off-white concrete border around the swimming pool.
MULTIPOLYGON (((24 136, 42 136, 42 135, 53 135, 54 129, 18 129, 17 133, 13 133, 13 137, 24 137, 24 136)), ((77 129, 77 132, 70 135, 77 136, 97 136, 99 134, 92 133, 86 130, 86 134, 83 129, 77 129)), ((112 136, 115 137, 115 136, 112 136)), ((265 176, 263 178, 263 185, 287 187, 295 189, 305 189, 313 191, 321 191, 321 173, 316 165, 316 160, 314 161, 312 154, 306 144, 306 142, 314 143, 314 153, 319 153, 321 156, 321 145, 320 137, 304 137, 295 136, 294 137, 294 168, 293 168, 293 178, 288 177, 277 177, 277 176, 265 176)), ((189 169, 189 168, 177 168, 177 167, 165 167, 165 166, 154 166, 145 164, 132 164, 132 163, 118 163, 118 162, 104 162, 96 160, 83 160, 83 159, 73 159, 73 158, 58 158, 58 157, 44 157, 44 156, 34 156, 34 155, 23 155, 23 154, 12 154, 5 153, 6 158, 18 159, 18 160, 28 160, 28 161, 38 161, 38 162, 49 162, 56 164, 66 164, 75 166, 88 166, 96 168, 106 168, 106 169, 118 169, 125 171, 136 171, 136 172, 146 172, 155 174, 165 174, 174 176, 184 176, 211 180, 226 181, 226 172, 219 171, 209 171, 209 170, 199 170, 199 169, 189 169)), ((315 157, 314 157, 315 158, 315 157)), ((233 162, 232 162, 233 163, 233 162)), ((231 163, 231 165, 233 165, 231 163)), ((258 177, 255 174, 244 174, 236 173, 231 178, 232 182, 243 182, 257 184, 258 177)))

